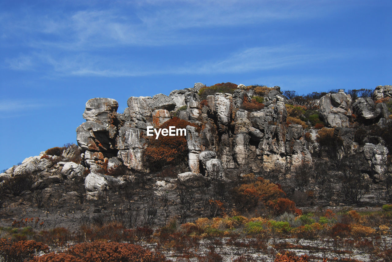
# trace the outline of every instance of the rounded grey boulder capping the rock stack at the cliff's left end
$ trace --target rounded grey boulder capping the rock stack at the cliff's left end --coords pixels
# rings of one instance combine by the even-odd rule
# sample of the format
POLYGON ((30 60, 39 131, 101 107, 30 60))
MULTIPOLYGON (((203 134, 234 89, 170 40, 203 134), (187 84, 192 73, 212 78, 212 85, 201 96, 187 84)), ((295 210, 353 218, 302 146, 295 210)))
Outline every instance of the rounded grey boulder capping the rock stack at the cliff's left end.
POLYGON ((116 118, 118 102, 110 98, 93 98, 86 102, 83 118, 100 124, 112 124, 116 118))

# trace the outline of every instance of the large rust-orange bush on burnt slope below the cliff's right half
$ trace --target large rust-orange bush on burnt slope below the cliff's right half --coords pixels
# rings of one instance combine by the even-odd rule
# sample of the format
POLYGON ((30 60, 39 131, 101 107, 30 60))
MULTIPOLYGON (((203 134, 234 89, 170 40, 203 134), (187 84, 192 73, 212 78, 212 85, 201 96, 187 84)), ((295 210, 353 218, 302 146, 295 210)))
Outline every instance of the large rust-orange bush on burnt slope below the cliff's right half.
POLYGON ((276 214, 295 212, 295 203, 285 198, 278 185, 267 179, 256 179, 253 174, 244 176, 243 184, 234 189, 234 200, 247 211, 261 205, 276 214))

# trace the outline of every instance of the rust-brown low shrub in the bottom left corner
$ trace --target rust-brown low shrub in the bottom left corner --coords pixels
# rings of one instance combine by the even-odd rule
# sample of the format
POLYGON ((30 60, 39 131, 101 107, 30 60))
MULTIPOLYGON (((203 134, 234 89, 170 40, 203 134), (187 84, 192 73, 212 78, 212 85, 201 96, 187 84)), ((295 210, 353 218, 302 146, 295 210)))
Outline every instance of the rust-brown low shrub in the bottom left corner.
POLYGON ((23 262, 48 250, 47 245, 34 240, 12 242, 9 239, 0 239, 0 261, 4 262, 23 262))

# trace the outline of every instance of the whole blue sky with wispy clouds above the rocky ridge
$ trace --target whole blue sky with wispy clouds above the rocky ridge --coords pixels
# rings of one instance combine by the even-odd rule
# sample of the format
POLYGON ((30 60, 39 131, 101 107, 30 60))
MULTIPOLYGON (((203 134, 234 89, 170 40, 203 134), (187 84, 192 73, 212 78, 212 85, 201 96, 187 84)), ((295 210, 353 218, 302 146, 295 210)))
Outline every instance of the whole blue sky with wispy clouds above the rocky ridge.
POLYGON ((392 1, 0 2, 0 169, 76 142, 85 102, 201 82, 391 84, 392 1))

